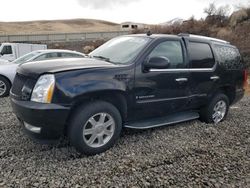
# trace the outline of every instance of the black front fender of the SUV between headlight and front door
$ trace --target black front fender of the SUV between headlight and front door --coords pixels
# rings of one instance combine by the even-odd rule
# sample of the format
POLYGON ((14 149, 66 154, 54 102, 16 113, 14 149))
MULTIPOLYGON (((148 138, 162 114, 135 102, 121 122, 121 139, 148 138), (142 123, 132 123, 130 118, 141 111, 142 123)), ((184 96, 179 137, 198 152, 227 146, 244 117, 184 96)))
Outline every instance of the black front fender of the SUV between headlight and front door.
POLYGON ((70 71, 55 76, 54 98, 60 101, 54 102, 68 105, 93 93, 117 91, 128 96, 134 84, 134 71, 130 67, 70 71))

